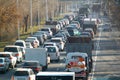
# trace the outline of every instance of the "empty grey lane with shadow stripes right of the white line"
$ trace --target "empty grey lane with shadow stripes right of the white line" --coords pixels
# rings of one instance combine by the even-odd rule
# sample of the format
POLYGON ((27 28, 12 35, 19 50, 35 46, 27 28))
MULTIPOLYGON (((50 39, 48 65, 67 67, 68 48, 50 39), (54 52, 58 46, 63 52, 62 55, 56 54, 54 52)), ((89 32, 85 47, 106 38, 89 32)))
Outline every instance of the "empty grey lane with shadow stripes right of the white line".
POLYGON ((102 32, 99 37, 99 48, 96 45, 96 51, 93 52, 93 60, 96 61, 91 80, 120 74, 120 45, 116 42, 118 37, 113 37, 113 34, 114 32, 102 32))

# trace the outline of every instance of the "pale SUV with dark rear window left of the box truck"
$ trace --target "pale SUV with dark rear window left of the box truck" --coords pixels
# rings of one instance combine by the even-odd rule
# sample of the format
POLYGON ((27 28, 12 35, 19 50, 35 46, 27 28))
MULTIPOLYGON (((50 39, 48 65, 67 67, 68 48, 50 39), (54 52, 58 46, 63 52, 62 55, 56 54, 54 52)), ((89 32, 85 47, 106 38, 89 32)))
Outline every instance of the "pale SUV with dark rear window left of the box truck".
POLYGON ((12 55, 17 58, 17 62, 23 61, 23 55, 20 46, 7 45, 4 48, 4 52, 12 52, 12 55))

